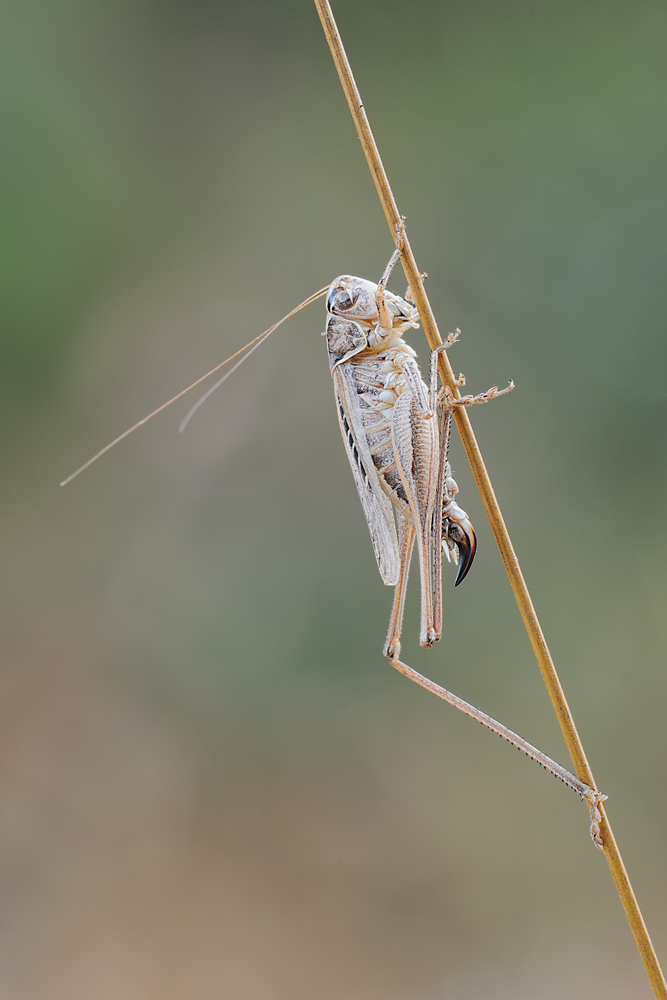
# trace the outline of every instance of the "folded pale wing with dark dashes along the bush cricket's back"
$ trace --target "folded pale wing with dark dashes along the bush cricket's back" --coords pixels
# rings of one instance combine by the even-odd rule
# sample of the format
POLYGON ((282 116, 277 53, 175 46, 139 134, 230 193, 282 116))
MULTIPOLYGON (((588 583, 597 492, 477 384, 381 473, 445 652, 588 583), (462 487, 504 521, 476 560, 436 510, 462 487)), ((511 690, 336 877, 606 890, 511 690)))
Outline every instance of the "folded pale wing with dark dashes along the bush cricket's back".
POLYGON ((393 587, 398 581, 400 565, 393 507, 378 482, 361 422, 356 381, 351 366, 338 365, 333 371, 333 380, 338 422, 371 533, 380 576, 387 586, 393 587))

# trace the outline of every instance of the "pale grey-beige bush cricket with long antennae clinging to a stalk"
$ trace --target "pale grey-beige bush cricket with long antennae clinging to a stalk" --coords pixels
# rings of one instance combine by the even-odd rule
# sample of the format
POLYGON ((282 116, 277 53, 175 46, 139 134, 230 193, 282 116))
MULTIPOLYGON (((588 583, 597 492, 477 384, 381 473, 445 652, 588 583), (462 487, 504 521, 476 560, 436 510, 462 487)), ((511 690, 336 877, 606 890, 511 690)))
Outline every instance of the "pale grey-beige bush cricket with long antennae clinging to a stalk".
MULTIPOLYGON (((114 438, 63 480, 61 486, 242 355, 189 410, 179 428, 183 431, 199 406, 274 330, 326 294, 327 326, 322 336, 327 342, 341 434, 380 575, 387 586, 395 588, 384 655, 400 673, 502 736, 580 795, 589 807, 591 837, 603 849, 598 806, 606 795, 595 791, 521 736, 400 659, 408 570, 415 541, 421 584, 419 641, 425 647, 433 646, 442 633, 443 552, 447 561, 454 561, 457 566, 455 586, 465 579, 475 556, 475 532, 468 515, 456 502, 458 486, 449 465, 454 407, 485 403, 514 388, 510 381, 505 389, 493 386, 487 392, 460 399, 455 399, 447 387, 438 391, 438 353, 448 350, 458 340, 460 330, 450 333, 446 343, 433 351, 430 385, 427 387, 422 381, 416 353, 403 339, 407 330, 419 326, 419 313, 410 301, 410 289, 405 298, 387 289, 391 272, 400 259, 401 235, 402 225, 397 227, 397 248, 377 284, 352 275, 336 278, 187 389, 114 438)), ((457 384, 465 384, 462 375, 457 384)))

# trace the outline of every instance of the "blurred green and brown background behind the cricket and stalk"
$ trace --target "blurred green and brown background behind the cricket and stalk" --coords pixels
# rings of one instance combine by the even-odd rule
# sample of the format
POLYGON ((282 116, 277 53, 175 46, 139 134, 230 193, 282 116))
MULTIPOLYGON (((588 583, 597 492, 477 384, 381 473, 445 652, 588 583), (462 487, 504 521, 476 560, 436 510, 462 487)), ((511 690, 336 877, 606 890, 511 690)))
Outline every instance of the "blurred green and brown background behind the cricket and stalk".
MULTIPOLYGON (((454 367, 517 383, 473 423, 664 960, 667 11, 335 11, 454 367)), ((321 303, 58 487, 382 272, 314 8, 4 13, 0 993, 650 997, 586 809, 382 659, 321 303)), ((453 448, 477 562, 405 657, 567 763, 453 448)))

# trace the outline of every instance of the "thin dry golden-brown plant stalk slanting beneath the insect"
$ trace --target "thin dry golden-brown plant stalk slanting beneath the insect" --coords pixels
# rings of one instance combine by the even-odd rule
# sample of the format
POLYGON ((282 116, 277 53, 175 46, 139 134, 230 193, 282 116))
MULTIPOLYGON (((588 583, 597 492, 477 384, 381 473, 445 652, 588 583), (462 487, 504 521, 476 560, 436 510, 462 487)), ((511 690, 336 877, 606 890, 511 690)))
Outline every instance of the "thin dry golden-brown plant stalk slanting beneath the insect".
MULTIPOLYGON (((397 227, 401 226, 402 217, 398 211, 398 207, 389 184, 389 178, 387 177, 380 152, 376 145, 373 132, 371 131, 368 116, 352 73, 352 67, 350 66, 343 47, 340 32, 338 31, 338 27, 334 20, 328 0, 314 0, 314 2, 322 22, 324 34, 329 44, 331 55, 333 56, 334 64, 338 71, 338 76, 340 78, 352 118, 354 120, 357 134, 361 140, 361 145, 375 182, 375 187, 380 198, 384 214, 387 218, 392 237, 396 239, 398 232, 397 227)), ((410 289, 412 290, 415 304, 419 310, 419 315, 429 347, 431 350, 434 350, 436 347, 439 347, 443 341, 440 336, 440 331, 438 330, 433 309, 424 288, 422 275, 417 267, 417 261, 415 260, 412 247, 410 246, 410 242, 405 234, 403 235, 402 242, 401 263, 403 265, 403 270, 405 271, 405 276, 408 280, 410 289)), ((449 363, 449 359, 447 358, 446 351, 440 352, 438 364, 443 383, 449 386, 451 392, 456 398, 459 398, 459 389, 456 385, 454 372, 449 363)), ((549 697, 551 698, 551 704, 553 705, 565 743, 567 744, 568 751, 572 758, 574 769, 581 781, 590 785, 591 788, 596 788, 597 786, 593 778, 593 773, 588 760, 586 759, 581 738, 577 732, 577 727, 574 723, 572 713, 565 698, 565 693, 556 672, 556 667, 554 666, 547 641, 544 637, 542 626, 540 625, 535 612, 528 587, 526 586, 526 581, 524 580, 519 561, 516 557, 516 553, 514 552, 514 547, 507 531, 507 527, 505 526, 505 521, 498 505, 493 486, 491 485, 491 480, 486 470, 482 453, 475 439, 472 425, 470 423, 470 417, 468 416, 466 408, 459 406, 455 407, 454 417, 456 419, 457 427, 463 441, 463 446, 468 456, 468 461, 470 462, 487 516, 491 523, 493 534, 498 544, 498 548, 500 549, 500 554, 503 563, 505 564, 505 569, 507 571, 512 590, 514 591, 514 596, 517 604, 519 605, 519 611, 521 612, 523 623, 526 627, 526 631, 528 632, 528 637, 533 647, 544 683, 547 686, 549 697)), ((651 986, 653 987, 653 991, 659 1000, 667 1000, 667 984, 665 983, 665 978, 662 973, 662 969, 660 968, 658 957, 639 908, 637 898, 634 894, 632 885, 630 884, 621 853, 618 849, 618 845, 616 844, 612 828, 609 824, 609 820, 603 806, 600 806, 600 813, 600 830, 604 842, 603 850, 607 858, 612 877, 616 884, 616 889, 621 897, 625 914, 628 918, 628 922, 630 923, 630 927, 632 928, 632 933, 637 943, 637 947, 639 948, 639 952, 644 962, 651 986)))

